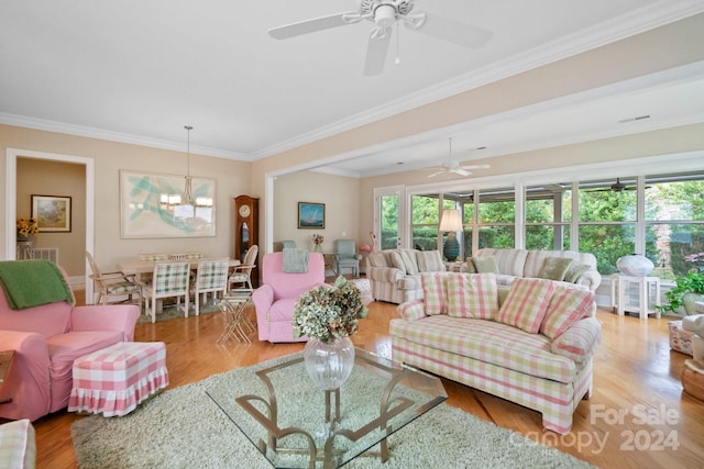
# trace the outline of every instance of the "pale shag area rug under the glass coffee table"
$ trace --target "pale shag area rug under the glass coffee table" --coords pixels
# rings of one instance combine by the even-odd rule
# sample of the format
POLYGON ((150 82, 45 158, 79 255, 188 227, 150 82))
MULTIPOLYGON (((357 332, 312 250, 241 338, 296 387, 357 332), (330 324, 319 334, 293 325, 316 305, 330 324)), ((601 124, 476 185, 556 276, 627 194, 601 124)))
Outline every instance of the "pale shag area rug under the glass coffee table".
MULTIPOLYGON (((230 389, 233 397, 260 386, 253 369, 271 361, 215 375, 157 394, 122 417, 91 415, 74 422, 72 436, 81 469, 271 468, 254 445, 206 394, 230 389), (256 381, 256 382, 253 382, 256 381)), ((294 379, 290 388, 309 386, 294 379)), ((344 388, 343 388, 344 391, 344 388)), ((360 393, 362 394, 362 393, 360 393)), ((343 397, 344 402, 344 397, 343 397)), ((344 405, 344 404, 343 404, 344 405)), ((300 406, 301 418, 310 412, 300 406)), ((344 409, 343 409, 344 415, 344 409)), ((359 457, 349 468, 592 468, 570 455, 535 443, 447 404, 440 404, 388 438, 386 464, 359 457)), ((378 449, 378 445, 377 445, 378 449)))

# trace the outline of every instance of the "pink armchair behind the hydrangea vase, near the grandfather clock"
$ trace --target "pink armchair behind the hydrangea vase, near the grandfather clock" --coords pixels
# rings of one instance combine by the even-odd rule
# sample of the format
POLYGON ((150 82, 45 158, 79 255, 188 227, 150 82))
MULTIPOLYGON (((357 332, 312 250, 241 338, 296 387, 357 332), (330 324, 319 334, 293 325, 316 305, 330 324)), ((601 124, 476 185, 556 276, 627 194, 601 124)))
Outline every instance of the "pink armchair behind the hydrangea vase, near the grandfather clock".
POLYGON ((284 253, 265 254, 262 258, 263 284, 252 294, 256 309, 260 340, 306 342, 308 337, 294 338, 292 320, 294 303, 305 291, 323 284, 326 266, 322 254, 308 253, 308 271, 284 271, 284 253))

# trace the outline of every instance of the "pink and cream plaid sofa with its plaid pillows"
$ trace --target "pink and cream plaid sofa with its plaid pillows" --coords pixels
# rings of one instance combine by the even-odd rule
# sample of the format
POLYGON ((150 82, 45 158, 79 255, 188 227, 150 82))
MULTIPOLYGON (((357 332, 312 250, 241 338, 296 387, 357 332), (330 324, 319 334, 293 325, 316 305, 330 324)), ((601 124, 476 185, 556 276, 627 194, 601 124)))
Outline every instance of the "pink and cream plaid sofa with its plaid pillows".
POLYGON ((592 390, 601 342, 594 293, 547 279, 497 284, 495 273, 421 275, 424 299, 391 321, 394 360, 542 413, 566 434, 592 390))

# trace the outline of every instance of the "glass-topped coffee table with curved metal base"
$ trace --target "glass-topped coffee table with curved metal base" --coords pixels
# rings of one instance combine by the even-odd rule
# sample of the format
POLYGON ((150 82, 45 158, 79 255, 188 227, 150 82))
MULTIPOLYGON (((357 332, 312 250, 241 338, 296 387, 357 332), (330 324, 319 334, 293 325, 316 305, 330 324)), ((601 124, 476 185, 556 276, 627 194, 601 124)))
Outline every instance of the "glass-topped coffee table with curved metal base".
POLYGON ((206 392, 274 467, 337 468, 362 454, 386 461, 386 438, 448 397, 422 371, 361 348, 354 360, 337 391, 317 388, 297 353, 250 367, 237 383, 244 392, 229 383, 206 392))

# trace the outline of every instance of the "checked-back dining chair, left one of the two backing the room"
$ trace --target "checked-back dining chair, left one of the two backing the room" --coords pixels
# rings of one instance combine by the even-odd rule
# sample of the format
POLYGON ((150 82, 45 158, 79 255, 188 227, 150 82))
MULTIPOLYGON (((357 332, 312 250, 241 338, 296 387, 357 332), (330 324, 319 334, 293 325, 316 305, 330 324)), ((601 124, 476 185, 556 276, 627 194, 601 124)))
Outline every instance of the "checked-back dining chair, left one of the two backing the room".
MULTIPOLYGON (((152 281, 141 282, 142 297, 148 308, 152 305, 152 322, 156 322, 156 300, 162 298, 176 298, 176 308, 180 308, 180 298, 184 297, 184 317, 188 317, 190 263, 156 263, 152 272, 152 281)), ((139 279, 138 279, 139 281, 139 279)))

